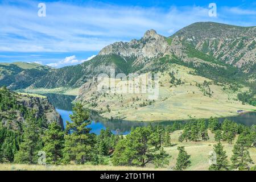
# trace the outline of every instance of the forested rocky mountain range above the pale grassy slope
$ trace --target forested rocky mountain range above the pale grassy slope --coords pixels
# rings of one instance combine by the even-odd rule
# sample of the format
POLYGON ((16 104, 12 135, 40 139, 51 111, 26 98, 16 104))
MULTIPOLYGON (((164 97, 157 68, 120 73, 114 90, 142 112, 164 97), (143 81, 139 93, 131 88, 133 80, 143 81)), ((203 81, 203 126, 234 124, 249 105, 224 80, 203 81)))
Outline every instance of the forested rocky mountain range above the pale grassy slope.
POLYGON ((246 80, 255 81, 255 37, 256 27, 213 22, 191 24, 168 38, 149 30, 142 39, 113 43, 92 60, 75 66, 53 69, 35 63, 0 64, 0 85, 10 89, 77 88, 93 76, 108 72, 106 66, 117 73, 147 72, 171 61, 193 64, 203 72, 210 67, 213 71, 232 70, 228 76, 245 73, 246 80))

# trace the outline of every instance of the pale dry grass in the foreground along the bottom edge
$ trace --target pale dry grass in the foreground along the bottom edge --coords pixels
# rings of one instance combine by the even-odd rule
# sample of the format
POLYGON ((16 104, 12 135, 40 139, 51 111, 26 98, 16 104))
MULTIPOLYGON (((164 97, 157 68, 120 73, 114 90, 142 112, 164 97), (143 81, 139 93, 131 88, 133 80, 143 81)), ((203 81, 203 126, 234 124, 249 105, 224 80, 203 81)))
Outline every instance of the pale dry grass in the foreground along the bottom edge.
MULTIPOLYGON (((177 146, 185 146, 185 150, 191 155, 191 166, 188 167, 187 170, 197 171, 197 170, 208 170, 209 162, 208 156, 209 152, 213 150, 213 145, 217 142, 214 142, 214 135, 209 132, 210 140, 208 141, 200 141, 200 142, 178 142, 178 137, 181 131, 175 131, 171 134, 171 142, 172 144, 176 144, 172 147, 165 147, 165 150, 168 154, 171 155, 170 164, 165 168, 154 168, 149 165, 145 168, 140 167, 119 167, 119 166, 92 166, 92 165, 65 165, 65 166, 39 166, 39 165, 28 165, 28 164, 0 164, 0 170, 77 170, 77 171, 85 171, 85 170, 103 170, 103 171, 126 171, 126 170, 172 170, 175 167, 176 159, 178 155, 177 146)), ((237 139, 237 138, 236 138, 237 139)), ((224 145, 224 150, 228 155, 228 159, 230 161, 230 157, 232 156, 232 149, 234 144, 228 144, 227 142, 222 142, 224 145)), ((256 163, 256 148, 250 148, 250 156, 253 159, 254 163, 256 163)))

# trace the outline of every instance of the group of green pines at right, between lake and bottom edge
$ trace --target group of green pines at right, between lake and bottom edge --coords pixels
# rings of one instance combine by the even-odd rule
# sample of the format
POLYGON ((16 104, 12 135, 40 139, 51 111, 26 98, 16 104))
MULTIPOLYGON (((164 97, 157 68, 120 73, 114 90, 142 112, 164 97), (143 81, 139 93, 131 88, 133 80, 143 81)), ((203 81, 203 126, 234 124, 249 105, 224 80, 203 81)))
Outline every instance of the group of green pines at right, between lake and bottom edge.
MULTIPOLYGON (((209 170, 228 170, 228 169, 250 169, 250 164, 253 160, 250 157, 249 148, 256 147, 256 126, 247 127, 241 124, 225 119, 224 122, 219 123, 217 118, 210 118, 207 123, 204 119, 199 121, 191 121, 185 124, 183 133, 179 137, 180 142, 209 140, 208 129, 214 133, 214 140, 218 142, 213 146, 216 159, 214 163, 209 166, 209 170), (228 156, 222 141, 227 141, 232 144, 238 135, 238 139, 233 147, 233 155, 230 158, 231 163, 228 162, 228 156)), ((184 148, 183 148, 184 149, 184 148)), ((213 159, 213 155, 209 156, 213 159)))

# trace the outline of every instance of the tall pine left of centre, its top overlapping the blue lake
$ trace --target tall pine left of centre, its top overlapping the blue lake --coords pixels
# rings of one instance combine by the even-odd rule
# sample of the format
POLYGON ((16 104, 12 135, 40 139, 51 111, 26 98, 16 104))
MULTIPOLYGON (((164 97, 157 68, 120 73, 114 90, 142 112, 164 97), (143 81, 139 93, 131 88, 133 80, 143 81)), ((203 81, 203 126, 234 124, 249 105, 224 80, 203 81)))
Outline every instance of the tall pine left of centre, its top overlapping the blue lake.
POLYGON ((89 111, 77 103, 73 107, 73 114, 70 115, 71 123, 67 122, 66 135, 64 136, 64 162, 74 161, 77 164, 93 160, 95 154, 95 134, 90 134, 89 111))

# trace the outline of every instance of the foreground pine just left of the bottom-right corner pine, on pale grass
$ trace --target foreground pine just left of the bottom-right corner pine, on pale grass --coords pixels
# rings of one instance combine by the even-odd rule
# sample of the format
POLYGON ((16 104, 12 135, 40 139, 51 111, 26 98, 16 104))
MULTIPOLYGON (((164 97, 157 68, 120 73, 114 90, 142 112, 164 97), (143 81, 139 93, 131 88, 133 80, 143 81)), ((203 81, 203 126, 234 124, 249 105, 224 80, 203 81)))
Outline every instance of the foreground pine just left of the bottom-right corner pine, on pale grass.
MULTIPOLYGON (((228 170, 228 156, 226 156, 226 151, 223 150, 223 146, 220 142, 218 142, 218 144, 214 144, 214 152, 216 154, 216 163, 210 165, 209 170, 228 170)), ((211 157, 212 156, 210 156, 210 158, 211 157)))

